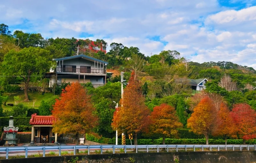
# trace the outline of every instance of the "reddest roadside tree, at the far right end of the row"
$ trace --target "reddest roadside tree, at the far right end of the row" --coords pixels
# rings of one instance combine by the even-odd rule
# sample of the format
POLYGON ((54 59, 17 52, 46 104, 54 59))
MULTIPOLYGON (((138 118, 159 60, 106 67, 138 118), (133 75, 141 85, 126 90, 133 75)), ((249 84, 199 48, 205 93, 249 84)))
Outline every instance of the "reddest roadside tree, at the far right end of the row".
POLYGON ((244 140, 256 138, 256 112, 248 104, 235 104, 231 111, 238 134, 244 140))

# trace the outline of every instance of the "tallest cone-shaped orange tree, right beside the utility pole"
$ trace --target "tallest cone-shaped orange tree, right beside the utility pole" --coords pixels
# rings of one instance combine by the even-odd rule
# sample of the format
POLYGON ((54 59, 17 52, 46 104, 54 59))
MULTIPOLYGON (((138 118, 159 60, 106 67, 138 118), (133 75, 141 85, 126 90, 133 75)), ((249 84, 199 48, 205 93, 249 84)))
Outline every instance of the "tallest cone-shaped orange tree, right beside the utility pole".
POLYGON ((134 72, 131 73, 120 104, 123 106, 115 111, 112 128, 117 129, 119 134, 132 133, 137 145, 137 134, 148 129, 150 111, 145 105, 145 98, 134 72))

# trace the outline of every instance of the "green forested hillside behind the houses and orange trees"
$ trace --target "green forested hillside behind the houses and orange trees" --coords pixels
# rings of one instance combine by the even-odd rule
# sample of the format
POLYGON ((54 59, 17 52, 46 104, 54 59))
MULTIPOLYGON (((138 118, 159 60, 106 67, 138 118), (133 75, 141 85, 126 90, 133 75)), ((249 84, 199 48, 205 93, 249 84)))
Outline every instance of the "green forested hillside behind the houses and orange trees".
MULTIPOLYGON (((151 112, 155 106, 169 104, 177 111, 179 121, 184 128, 187 127, 187 119, 193 113, 194 107, 206 96, 218 106, 221 102, 226 103, 230 110, 234 104, 238 103, 247 103, 256 110, 256 91, 254 90, 256 71, 252 67, 225 61, 196 63, 183 57, 175 49, 145 56, 140 52, 139 47, 125 47, 119 42, 106 43, 100 39, 94 41, 99 46, 102 44, 107 47, 109 44, 107 54, 101 51, 98 53, 79 51, 79 54, 106 61, 109 63, 107 72, 115 72, 108 83, 102 87, 92 88, 90 85, 85 85, 99 118, 99 125, 95 128, 95 132, 103 137, 112 138, 114 135, 111 122, 116 104, 113 101, 119 102, 121 98, 121 77, 117 75, 121 71, 125 72, 126 81, 134 71, 135 78, 139 80, 139 85, 142 87, 145 104, 151 112), (193 91, 189 79, 204 78, 208 80, 205 91, 193 91)), ((22 31, 11 34, 8 26, 1 24, 0 43, 2 47, 0 48, 0 95, 2 96, 0 102, 4 106, 7 96, 21 91, 17 86, 24 88, 25 91, 31 86, 48 87, 45 73, 56 64, 52 59, 76 55, 78 45, 82 48, 88 44, 88 40, 46 39, 40 33, 22 31)), ((61 88, 53 92, 54 95, 60 93, 61 88)), ((24 99, 22 97, 16 101, 30 98, 24 95, 24 99)), ((52 99, 41 102, 38 113, 51 114, 53 103, 52 99)), ((1 105, 0 109, 2 109, 1 105)), ((0 115, 9 116, 12 113, 12 110, 6 110, 1 111, 0 115)))

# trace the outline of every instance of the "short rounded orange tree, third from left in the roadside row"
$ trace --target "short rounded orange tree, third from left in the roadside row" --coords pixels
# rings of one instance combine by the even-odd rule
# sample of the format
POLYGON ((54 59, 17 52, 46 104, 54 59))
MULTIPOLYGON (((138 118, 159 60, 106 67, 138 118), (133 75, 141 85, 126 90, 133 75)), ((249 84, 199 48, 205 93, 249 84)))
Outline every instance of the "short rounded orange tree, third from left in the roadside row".
POLYGON ((176 115, 175 108, 167 104, 154 107, 150 120, 150 131, 161 135, 163 144, 165 144, 165 137, 177 136, 178 130, 176 129, 183 127, 176 115))

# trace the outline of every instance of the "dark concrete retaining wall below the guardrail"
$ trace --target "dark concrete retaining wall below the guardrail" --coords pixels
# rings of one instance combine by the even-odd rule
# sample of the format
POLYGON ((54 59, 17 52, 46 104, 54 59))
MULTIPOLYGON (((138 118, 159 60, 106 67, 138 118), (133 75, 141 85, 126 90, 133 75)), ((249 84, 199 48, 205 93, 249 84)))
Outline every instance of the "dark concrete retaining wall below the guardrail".
POLYGON ((41 158, 0 159, 1 163, 59 163, 78 157, 80 163, 253 163, 256 151, 160 152, 92 154, 41 158))

